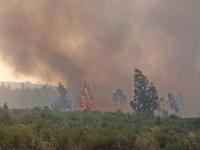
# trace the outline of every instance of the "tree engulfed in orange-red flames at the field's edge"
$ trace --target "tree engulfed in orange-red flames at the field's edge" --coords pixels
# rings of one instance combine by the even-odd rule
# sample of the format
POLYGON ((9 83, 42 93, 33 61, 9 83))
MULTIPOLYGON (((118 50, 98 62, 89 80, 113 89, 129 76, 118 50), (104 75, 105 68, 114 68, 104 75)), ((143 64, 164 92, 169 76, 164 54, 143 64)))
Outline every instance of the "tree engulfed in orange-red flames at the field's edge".
POLYGON ((84 82, 83 89, 81 90, 81 102, 80 111, 94 110, 93 96, 90 92, 90 86, 87 82, 84 82))

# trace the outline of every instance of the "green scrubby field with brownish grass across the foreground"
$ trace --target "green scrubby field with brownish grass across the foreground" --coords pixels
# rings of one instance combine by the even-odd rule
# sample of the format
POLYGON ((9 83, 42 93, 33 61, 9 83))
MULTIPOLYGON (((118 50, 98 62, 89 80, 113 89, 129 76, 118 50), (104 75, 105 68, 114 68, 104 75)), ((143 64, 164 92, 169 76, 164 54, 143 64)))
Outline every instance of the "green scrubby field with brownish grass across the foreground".
POLYGON ((0 149, 199 150, 200 118, 1 110, 0 149))

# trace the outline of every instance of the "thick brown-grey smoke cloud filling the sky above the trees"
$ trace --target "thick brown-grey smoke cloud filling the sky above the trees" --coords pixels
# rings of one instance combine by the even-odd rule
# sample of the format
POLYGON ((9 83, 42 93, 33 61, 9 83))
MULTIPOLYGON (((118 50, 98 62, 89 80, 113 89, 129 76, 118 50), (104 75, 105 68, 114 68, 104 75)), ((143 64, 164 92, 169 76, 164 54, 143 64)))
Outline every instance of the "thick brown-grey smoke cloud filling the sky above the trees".
MULTIPOLYGON (((0 56, 17 74, 130 95, 134 68, 200 111, 200 1, 0 0, 0 56)), ((109 102, 108 102, 109 103, 109 102)))

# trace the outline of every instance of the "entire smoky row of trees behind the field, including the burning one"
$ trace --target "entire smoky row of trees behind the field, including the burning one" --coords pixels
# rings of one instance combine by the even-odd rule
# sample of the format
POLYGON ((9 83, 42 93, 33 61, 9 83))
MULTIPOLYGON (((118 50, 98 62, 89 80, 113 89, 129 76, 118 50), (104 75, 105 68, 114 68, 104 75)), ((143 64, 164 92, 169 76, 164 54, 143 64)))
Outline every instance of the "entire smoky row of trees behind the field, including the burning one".
MULTIPOLYGON (((160 97, 156 86, 148 80, 142 71, 135 69, 134 72, 134 90, 131 93, 126 93, 121 88, 114 91, 112 105, 106 111, 116 112, 134 112, 136 114, 154 115, 159 113, 160 116, 168 116, 171 114, 182 115, 183 111, 183 96, 179 94, 168 94, 168 97, 160 97), (129 95, 129 96, 127 96, 129 95), (131 110, 132 109, 132 110, 131 110)), ((22 84, 20 88, 13 89, 8 84, 0 86, 0 98, 6 100, 10 105, 14 101, 13 98, 19 101, 32 103, 34 106, 50 106, 52 110, 57 111, 96 111, 101 106, 98 103, 99 95, 96 95, 94 101, 93 93, 97 93, 97 89, 91 90, 88 82, 84 82, 82 87, 65 87, 59 82, 57 87, 42 86, 41 88, 29 88, 22 84), (77 93, 80 91, 80 93, 77 93), (77 98, 76 98, 77 97, 77 98), (30 101, 30 102, 29 102, 30 101), (33 103, 34 101, 34 103, 33 103)), ((112 97, 111 97, 112 96, 112 97)), ((111 99, 110 99, 111 100, 111 99)), ((109 103, 109 101, 107 101, 109 103)))

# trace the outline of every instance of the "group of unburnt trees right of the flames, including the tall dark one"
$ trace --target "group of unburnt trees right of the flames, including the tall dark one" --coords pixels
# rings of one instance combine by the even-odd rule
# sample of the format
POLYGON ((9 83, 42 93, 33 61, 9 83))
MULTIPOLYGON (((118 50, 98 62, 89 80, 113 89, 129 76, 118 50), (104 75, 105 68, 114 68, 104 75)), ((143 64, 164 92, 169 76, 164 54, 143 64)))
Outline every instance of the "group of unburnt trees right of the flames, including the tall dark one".
MULTIPOLYGON (((130 100, 130 107, 137 115, 153 116, 155 112, 167 116, 169 114, 178 114, 183 105, 183 96, 168 93, 167 98, 159 97, 159 92, 153 82, 139 69, 134 70, 133 75, 134 90, 133 97, 130 100)), ((121 105, 127 100, 127 96, 122 89, 117 89, 112 97, 115 105, 121 105)), ((116 108, 119 111, 119 107, 116 108)))

